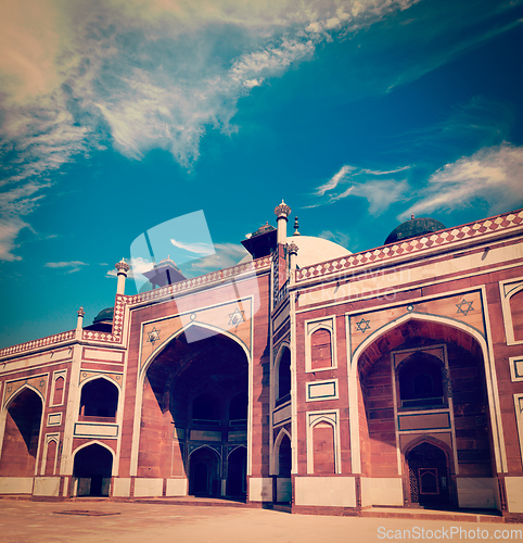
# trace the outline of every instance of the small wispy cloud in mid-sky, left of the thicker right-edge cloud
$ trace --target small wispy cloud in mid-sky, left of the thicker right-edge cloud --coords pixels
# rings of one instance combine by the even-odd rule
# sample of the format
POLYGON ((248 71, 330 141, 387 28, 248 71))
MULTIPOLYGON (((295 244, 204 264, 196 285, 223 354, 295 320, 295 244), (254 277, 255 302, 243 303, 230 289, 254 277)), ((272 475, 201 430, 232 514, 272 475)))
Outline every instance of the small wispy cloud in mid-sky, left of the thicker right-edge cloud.
POLYGON ((406 197, 408 181, 404 176, 397 176, 410 166, 403 166, 386 172, 343 166, 331 179, 318 187, 315 197, 319 201, 308 207, 329 205, 347 197, 365 198, 369 202, 369 213, 379 215, 388 206, 406 197), (395 175, 395 177, 392 177, 395 175), (386 178, 383 178, 385 177, 386 178), (344 190, 342 190, 344 189, 344 190))

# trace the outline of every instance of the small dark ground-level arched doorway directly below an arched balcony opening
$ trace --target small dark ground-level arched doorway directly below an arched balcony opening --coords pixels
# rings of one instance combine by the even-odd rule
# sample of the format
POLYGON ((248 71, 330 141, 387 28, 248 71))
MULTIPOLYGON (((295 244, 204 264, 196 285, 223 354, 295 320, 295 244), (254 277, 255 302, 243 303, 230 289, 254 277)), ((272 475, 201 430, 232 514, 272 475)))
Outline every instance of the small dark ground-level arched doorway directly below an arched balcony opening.
POLYGON ((109 496, 113 455, 98 443, 80 449, 75 455, 73 476, 78 480, 78 496, 109 496))

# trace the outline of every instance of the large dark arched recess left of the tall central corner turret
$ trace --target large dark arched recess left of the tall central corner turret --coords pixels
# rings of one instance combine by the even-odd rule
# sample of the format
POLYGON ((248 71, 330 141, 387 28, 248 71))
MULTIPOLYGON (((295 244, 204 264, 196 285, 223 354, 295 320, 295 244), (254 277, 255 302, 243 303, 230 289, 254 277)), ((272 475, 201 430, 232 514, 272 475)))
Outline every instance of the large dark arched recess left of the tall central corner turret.
POLYGON ((148 368, 139 477, 187 478, 190 494, 242 496, 247 357, 235 340, 196 325, 190 339, 173 339, 148 368))

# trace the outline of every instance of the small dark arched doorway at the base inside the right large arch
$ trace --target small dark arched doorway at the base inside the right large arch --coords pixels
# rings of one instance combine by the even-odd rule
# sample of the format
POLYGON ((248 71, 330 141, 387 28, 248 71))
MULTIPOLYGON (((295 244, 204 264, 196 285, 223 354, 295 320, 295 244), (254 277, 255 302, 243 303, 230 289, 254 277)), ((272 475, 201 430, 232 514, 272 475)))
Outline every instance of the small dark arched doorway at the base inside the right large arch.
POLYGON ((409 470, 410 504, 429 508, 449 508, 448 458, 432 443, 423 442, 406 457, 409 470))

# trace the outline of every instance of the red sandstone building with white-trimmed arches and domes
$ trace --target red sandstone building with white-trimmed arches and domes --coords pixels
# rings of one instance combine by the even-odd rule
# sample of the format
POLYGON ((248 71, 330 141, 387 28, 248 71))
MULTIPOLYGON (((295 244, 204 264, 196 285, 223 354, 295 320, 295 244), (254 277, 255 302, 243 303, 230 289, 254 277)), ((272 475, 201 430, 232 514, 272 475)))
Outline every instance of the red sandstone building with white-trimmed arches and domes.
POLYGON ((523 514, 523 211, 357 254, 289 213, 251 263, 125 295, 120 262, 93 325, 1 350, 0 493, 523 514))

